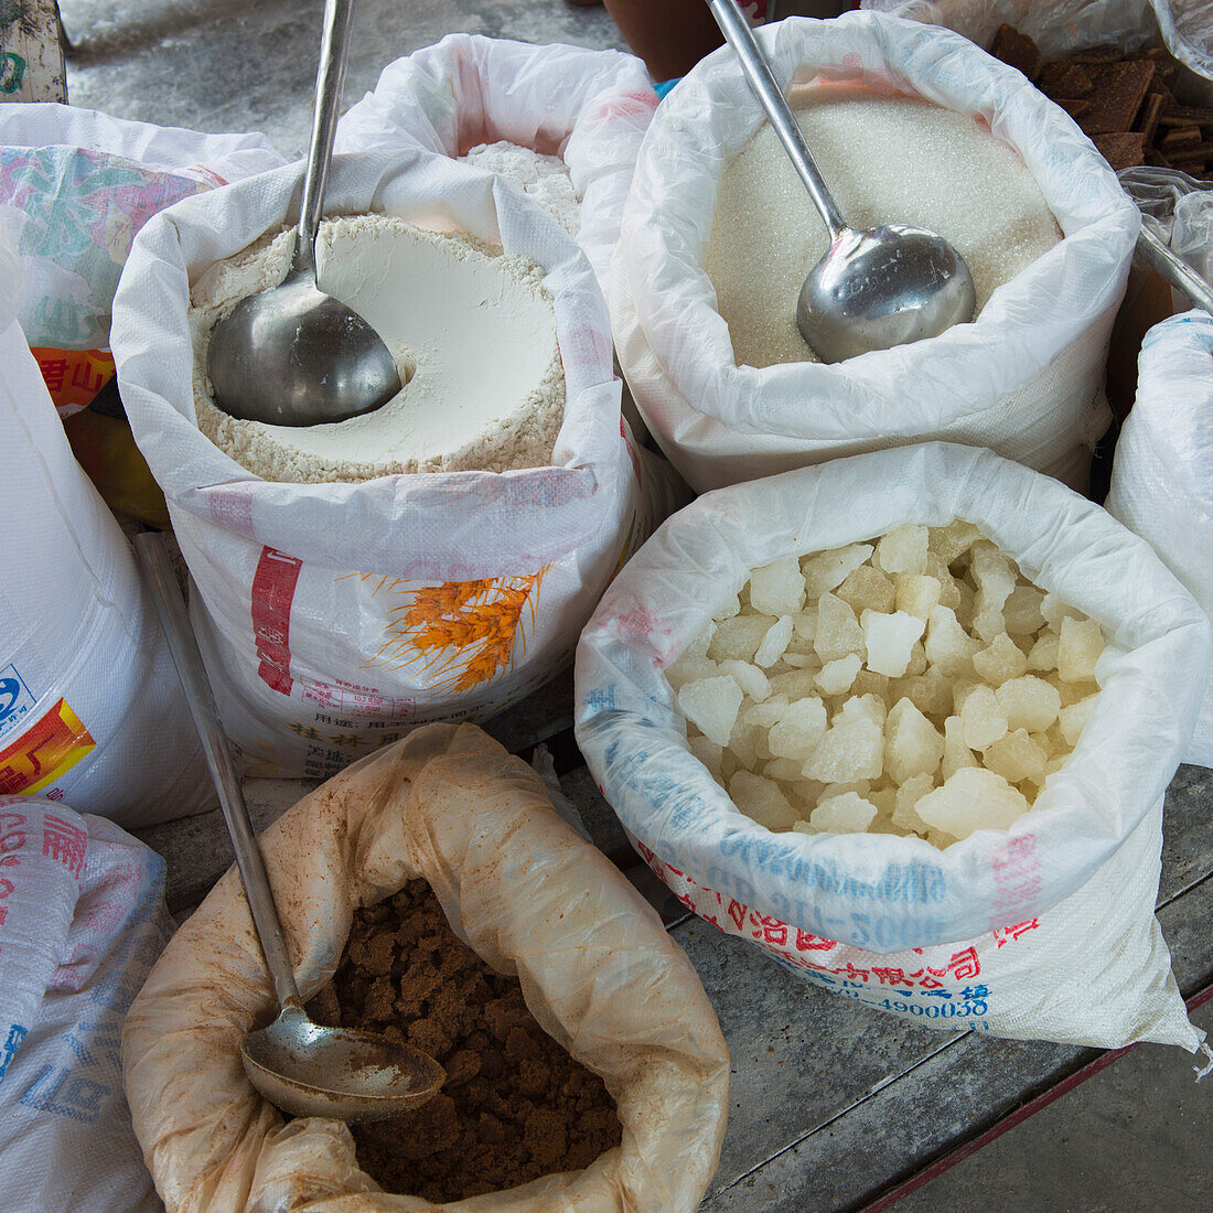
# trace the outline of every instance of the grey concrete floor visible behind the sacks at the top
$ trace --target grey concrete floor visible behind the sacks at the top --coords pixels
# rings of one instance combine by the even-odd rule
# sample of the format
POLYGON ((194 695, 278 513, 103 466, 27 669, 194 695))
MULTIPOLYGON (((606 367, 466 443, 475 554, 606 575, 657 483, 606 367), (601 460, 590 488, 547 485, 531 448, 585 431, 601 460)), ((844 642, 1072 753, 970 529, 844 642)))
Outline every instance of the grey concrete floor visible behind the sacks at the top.
MULTIPOLYGON (((320 0, 62 0, 74 50, 68 98, 161 126, 262 131, 289 159, 312 129, 320 0)), ((524 42, 626 49, 604 8, 564 0, 361 0, 344 106, 393 59, 462 30, 524 42)))

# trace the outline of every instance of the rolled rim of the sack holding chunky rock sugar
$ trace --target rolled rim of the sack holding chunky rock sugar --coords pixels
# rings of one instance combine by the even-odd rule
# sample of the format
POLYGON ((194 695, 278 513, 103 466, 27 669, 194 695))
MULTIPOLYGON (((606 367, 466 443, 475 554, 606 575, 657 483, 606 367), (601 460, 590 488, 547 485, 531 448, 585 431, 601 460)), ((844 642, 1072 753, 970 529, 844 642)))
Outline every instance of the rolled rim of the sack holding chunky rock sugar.
POLYGON ((1205 680, 1177 687, 1164 671, 1208 670, 1211 648, 1201 608, 1100 507, 987 450, 926 443, 719 489, 662 524, 582 632, 575 729, 623 826, 664 862, 815 935, 893 952, 1030 919, 1089 879, 1163 795, 1195 724, 1205 680), (980 508, 993 478, 1023 506, 997 520, 980 508), (818 511, 825 522, 814 526, 818 511), (1029 514, 1048 523, 1033 526, 1029 514), (917 837, 776 835, 741 815, 684 748, 662 670, 752 568, 953 517, 979 524, 1025 576, 1105 628, 1103 693, 1070 769, 1009 830, 976 831, 946 850, 917 837), (869 911, 884 916, 885 939, 854 917, 869 911))

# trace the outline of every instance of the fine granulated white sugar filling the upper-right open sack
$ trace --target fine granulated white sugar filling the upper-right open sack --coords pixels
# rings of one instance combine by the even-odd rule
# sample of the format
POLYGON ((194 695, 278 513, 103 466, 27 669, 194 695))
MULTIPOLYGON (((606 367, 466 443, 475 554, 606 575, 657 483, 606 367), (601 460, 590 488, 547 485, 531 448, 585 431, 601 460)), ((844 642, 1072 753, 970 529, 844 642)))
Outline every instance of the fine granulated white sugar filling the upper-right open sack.
MULTIPOLYGON (((854 86, 815 85, 792 103, 847 222, 938 232, 968 263, 979 312, 1061 239, 1027 166, 981 120, 854 86)), ((739 365, 818 360, 796 328, 796 300, 827 249, 825 223, 764 123, 724 170, 705 258, 739 365)))

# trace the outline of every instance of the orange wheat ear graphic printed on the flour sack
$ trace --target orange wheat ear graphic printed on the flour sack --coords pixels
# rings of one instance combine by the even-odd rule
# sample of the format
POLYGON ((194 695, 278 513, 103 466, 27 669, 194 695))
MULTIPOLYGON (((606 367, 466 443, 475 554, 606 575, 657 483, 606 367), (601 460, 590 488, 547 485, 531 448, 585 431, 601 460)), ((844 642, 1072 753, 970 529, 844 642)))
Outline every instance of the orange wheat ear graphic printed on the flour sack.
MULTIPOLYGON (((382 579, 372 596, 387 587, 409 600, 388 611, 387 639, 366 667, 415 666, 414 673, 438 676, 434 689, 448 693, 489 682, 512 665, 514 637, 528 605, 534 627, 535 594, 545 573, 546 566, 528 576, 444 581, 416 590, 404 588, 414 582, 382 579)), ((524 628, 524 655, 525 643, 524 628)))

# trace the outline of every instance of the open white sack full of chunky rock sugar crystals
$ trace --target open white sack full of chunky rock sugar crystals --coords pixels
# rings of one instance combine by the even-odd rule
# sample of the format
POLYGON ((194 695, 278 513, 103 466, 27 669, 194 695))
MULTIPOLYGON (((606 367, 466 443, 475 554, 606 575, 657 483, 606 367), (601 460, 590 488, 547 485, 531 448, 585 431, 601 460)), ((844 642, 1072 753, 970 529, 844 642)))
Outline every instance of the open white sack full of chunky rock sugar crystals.
POLYGON ((666 522, 582 634, 577 742, 687 906, 849 1006, 1195 1050, 1154 906, 1209 655, 1143 540, 932 443, 666 522))

